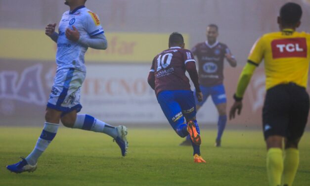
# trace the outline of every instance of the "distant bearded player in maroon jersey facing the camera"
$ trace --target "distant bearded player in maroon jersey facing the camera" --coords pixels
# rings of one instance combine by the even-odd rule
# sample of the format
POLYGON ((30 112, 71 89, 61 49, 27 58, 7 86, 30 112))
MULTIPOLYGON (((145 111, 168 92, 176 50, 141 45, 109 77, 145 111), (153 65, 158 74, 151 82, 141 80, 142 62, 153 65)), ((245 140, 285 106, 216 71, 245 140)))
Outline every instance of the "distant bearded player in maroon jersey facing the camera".
MULTIPOLYGON (((223 86, 224 59, 226 58, 232 67, 237 65, 237 61, 231 54, 230 49, 225 44, 217 41, 219 36, 219 28, 217 25, 208 25, 206 35, 206 42, 199 43, 192 48, 193 54, 198 59, 200 90, 203 93, 203 100, 201 102, 198 102, 196 99, 196 108, 198 111, 206 102, 209 95, 211 95, 219 112, 218 136, 215 144, 219 147, 221 146, 221 136, 227 121, 226 94, 223 86)), ((188 145, 188 141, 189 138, 180 145, 188 145)))

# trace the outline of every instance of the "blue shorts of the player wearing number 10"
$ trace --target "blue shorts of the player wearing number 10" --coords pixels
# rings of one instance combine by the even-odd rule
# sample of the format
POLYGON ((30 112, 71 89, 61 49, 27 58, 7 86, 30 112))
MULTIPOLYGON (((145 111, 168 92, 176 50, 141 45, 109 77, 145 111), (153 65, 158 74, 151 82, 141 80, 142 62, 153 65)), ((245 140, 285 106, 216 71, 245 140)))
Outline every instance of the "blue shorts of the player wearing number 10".
POLYGON ((163 91, 158 93, 157 100, 174 129, 178 124, 184 123, 184 117, 191 119, 196 116, 196 104, 192 91, 163 91))

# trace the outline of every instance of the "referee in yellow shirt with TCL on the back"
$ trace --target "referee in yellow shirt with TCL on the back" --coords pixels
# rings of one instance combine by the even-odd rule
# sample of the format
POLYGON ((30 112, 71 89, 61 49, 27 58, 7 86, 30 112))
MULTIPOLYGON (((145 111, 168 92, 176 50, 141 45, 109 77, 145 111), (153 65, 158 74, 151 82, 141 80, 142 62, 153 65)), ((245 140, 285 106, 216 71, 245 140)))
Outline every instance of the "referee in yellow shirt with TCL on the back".
POLYGON ((299 164, 298 143, 309 114, 306 92, 310 35, 296 32, 302 8, 289 2, 280 9, 280 32, 262 36, 253 46, 234 94, 229 119, 241 113, 242 97, 256 67, 265 60, 266 98, 263 130, 267 145, 269 186, 292 186, 299 164), (284 149, 282 141, 284 140, 284 149), (284 151, 284 153, 283 153, 284 151), (283 156, 284 154, 284 156, 283 156))

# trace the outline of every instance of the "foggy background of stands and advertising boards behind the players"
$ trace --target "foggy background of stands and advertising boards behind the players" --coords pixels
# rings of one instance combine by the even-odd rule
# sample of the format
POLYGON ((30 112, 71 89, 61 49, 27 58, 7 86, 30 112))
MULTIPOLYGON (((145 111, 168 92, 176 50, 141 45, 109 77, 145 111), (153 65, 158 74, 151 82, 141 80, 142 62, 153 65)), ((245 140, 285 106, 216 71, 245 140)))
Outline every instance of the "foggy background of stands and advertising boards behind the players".
MULTIPOLYGON (((310 31, 310 0, 302 26, 310 31)), ((186 48, 206 40, 206 27, 219 26, 219 41, 236 57, 225 62, 227 112, 248 53, 264 33, 278 31, 279 8, 288 0, 88 0, 105 30, 108 49, 90 49, 81 113, 110 124, 167 125, 154 91, 147 84, 153 57, 168 47, 172 32, 183 34, 186 48)), ((42 126, 55 74, 56 44, 44 35, 49 23, 68 10, 63 0, 0 0, 0 126, 42 126)), ((242 116, 230 126, 261 127, 265 96, 264 65, 253 76, 242 116)), ((197 114, 201 125, 215 125, 211 99, 197 114)), ((309 125, 308 125, 309 126, 309 125)))

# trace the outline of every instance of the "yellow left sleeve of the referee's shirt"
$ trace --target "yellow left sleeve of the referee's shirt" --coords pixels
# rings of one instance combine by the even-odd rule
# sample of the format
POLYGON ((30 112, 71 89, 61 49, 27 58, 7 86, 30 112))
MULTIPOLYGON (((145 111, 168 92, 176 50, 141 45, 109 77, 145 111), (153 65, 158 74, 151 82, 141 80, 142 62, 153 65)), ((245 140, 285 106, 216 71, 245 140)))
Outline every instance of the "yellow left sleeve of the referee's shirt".
POLYGON ((263 38, 258 39, 253 45, 250 55, 248 57, 248 62, 258 66, 264 58, 264 41, 263 38))

